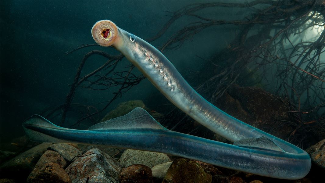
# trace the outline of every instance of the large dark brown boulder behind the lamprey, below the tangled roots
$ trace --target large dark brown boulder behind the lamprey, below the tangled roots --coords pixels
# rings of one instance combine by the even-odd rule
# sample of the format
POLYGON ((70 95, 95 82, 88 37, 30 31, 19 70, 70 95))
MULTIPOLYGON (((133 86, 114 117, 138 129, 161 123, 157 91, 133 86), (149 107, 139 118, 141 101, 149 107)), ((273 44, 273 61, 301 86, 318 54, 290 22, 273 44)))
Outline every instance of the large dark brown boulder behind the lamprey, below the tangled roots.
POLYGON ((292 125, 276 120, 281 118, 290 121, 288 102, 258 87, 230 85, 216 106, 229 115, 282 139, 294 130, 292 125))

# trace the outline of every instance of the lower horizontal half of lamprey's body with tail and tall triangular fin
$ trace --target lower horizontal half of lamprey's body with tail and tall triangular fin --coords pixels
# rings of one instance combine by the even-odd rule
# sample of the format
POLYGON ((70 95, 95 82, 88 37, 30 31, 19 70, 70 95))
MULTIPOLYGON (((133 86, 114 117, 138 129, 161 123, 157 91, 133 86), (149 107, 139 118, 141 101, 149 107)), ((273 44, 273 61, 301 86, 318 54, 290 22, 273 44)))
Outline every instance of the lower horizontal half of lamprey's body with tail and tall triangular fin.
MULTIPOLYGON (((306 169, 310 166, 308 155, 286 153, 277 148, 240 147, 168 130, 141 108, 95 124, 88 130, 62 128, 39 115, 26 119, 23 128, 30 140, 37 142, 96 144, 162 152, 274 178, 299 179, 308 173, 306 169), (136 122, 128 123, 132 120, 136 122)), ((262 143, 268 142, 269 139, 262 139, 262 143)))

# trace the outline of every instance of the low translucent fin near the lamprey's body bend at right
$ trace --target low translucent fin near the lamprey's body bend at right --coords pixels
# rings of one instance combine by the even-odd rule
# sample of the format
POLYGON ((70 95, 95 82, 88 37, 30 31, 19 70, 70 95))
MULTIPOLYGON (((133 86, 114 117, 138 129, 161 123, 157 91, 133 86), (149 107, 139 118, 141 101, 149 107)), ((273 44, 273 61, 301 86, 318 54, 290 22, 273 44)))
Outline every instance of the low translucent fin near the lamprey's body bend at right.
POLYGON ((266 137, 244 138, 234 142, 234 145, 249 149, 284 152, 276 143, 266 137))

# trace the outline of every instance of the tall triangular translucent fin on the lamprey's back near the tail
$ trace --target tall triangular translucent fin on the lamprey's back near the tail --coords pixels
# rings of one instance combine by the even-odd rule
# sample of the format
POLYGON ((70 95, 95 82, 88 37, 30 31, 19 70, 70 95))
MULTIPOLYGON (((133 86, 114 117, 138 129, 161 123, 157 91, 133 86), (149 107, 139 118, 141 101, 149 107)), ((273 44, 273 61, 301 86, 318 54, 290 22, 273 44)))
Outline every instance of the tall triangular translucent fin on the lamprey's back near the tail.
POLYGON ((151 128, 167 130, 159 124, 147 111, 137 107, 131 112, 108 121, 90 126, 91 131, 105 131, 112 129, 136 129, 136 128, 151 128))

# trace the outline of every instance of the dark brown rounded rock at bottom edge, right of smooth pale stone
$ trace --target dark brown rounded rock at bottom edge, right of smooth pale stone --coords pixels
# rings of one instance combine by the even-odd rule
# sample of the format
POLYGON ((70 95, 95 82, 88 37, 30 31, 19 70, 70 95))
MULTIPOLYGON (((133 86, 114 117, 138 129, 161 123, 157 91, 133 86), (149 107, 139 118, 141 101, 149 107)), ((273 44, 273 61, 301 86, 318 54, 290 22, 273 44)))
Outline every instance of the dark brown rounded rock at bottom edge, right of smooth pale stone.
POLYGON ((195 182, 211 183, 212 176, 193 160, 177 158, 170 165, 162 183, 195 182))

